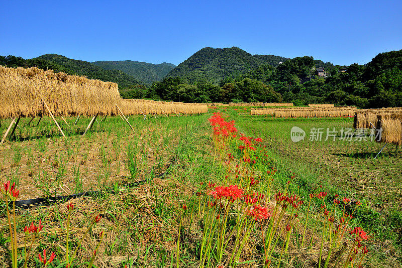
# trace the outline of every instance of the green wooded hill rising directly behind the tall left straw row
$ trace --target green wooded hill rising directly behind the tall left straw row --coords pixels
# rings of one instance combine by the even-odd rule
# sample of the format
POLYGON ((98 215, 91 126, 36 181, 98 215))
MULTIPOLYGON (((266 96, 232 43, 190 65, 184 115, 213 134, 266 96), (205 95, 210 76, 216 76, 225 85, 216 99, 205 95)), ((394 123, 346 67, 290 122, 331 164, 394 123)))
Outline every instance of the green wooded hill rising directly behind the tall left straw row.
POLYGON ((64 68, 63 71, 69 74, 85 75, 89 79, 99 79, 102 81, 111 81, 119 84, 119 88, 127 88, 133 85, 143 84, 140 80, 121 70, 104 70, 87 61, 69 59, 62 55, 45 54, 29 61, 39 59, 43 62, 50 62, 64 68))

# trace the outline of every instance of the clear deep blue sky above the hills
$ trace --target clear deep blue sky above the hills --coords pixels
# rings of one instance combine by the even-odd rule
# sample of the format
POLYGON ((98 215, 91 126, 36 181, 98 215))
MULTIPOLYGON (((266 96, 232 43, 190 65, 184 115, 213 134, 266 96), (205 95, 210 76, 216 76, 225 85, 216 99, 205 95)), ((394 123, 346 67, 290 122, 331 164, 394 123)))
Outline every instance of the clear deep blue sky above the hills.
POLYGON ((179 64, 204 47, 350 65, 402 49, 402 1, 6 1, 0 55, 179 64))

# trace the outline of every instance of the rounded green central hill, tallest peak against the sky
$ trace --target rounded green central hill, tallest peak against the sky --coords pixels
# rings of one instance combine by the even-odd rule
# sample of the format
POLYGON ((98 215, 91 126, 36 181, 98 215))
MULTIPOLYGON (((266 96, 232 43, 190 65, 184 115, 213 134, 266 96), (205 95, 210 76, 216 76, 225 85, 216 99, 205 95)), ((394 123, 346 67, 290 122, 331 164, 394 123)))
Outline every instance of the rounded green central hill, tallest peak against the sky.
POLYGON ((172 69, 166 77, 179 76, 188 82, 218 83, 228 76, 238 77, 262 64, 274 67, 289 59, 274 55, 251 55, 238 48, 203 48, 172 69))

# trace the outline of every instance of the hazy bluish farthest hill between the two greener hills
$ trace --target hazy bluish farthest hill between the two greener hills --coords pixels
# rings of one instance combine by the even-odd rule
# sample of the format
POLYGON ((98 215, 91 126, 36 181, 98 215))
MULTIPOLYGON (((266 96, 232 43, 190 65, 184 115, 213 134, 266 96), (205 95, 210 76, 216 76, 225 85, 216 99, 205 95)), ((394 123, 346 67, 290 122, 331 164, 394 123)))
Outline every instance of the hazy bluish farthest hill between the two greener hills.
POLYGON ((176 67, 176 65, 166 62, 152 64, 139 61, 95 61, 92 64, 105 70, 121 70, 147 85, 161 80, 170 70, 176 67))

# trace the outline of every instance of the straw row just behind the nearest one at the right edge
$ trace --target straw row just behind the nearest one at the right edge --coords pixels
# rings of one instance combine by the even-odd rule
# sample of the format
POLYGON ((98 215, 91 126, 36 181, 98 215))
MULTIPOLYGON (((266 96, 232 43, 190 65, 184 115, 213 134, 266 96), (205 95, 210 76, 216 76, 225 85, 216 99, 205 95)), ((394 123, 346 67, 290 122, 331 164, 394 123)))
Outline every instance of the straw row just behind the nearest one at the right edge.
POLYGON ((353 128, 371 128, 377 123, 377 115, 384 113, 402 113, 402 108, 380 108, 380 109, 362 109, 356 110, 353 128))

